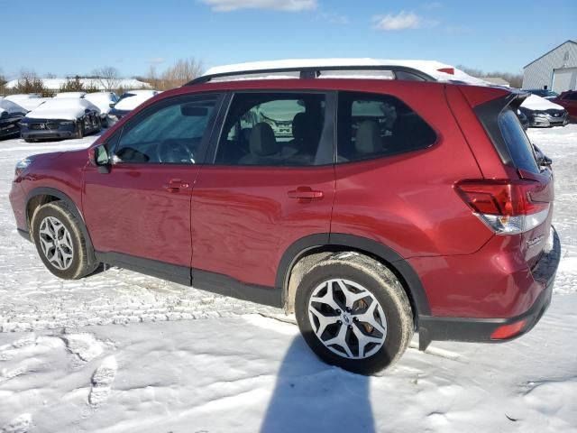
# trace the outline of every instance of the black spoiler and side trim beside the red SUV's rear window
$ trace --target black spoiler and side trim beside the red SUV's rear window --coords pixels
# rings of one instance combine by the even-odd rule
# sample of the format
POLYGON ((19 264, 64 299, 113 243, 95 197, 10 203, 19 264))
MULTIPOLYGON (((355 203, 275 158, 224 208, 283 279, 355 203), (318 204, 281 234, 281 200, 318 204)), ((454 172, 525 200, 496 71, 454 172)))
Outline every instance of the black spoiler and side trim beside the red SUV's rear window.
MULTIPOLYGON (((499 88, 501 89, 501 88, 499 88)), ((491 142, 495 145, 495 149, 499 153, 501 161, 503 163, 515 166, 510 152, 508 151, 507 143, 501 134, 499 128, 499 115, 507 109, 512 109, 517 113, 517 109, 523 101, 527 99, 530 95, 529 92, 519 90, 517 88, 510 89, 504 93, 504 95, 490 99, 487 102, 483 102, 473 109, 475 114, 481 121, 485 132, 489 135, 491 142)))

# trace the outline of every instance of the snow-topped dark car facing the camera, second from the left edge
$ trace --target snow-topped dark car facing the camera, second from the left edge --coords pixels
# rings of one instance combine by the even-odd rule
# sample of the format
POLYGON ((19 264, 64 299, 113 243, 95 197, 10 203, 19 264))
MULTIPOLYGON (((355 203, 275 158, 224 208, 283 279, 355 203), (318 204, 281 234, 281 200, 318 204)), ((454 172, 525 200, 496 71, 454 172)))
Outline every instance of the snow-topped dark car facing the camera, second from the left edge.
POLYGON ((100 110, 84 98, 54 98, 34 108, 20 123, 27 142, 82 138, 101 129, 100 110))

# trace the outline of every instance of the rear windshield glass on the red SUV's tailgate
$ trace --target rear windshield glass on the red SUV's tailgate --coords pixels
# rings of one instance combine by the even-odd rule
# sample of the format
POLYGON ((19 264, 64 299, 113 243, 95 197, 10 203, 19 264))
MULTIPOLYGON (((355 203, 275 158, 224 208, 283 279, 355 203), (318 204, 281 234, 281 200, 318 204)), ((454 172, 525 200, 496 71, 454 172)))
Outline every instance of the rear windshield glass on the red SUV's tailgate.
POLYGON ((499 115, 499 128, 515 167, 539 173, 533 144, 529 141, 513 110, 505 110, 499 115))

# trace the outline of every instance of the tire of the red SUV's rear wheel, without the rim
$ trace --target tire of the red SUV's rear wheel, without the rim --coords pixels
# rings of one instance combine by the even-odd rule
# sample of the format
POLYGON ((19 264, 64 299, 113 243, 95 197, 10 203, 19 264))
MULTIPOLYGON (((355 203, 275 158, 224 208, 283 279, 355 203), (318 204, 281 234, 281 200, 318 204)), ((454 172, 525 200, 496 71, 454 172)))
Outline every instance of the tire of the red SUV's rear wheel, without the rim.
MULTIPOLYGON (((411 306, 398 278, 383 264, 360 253, 334 253, 316 263, 298 285, 295 313, 300 332, 316 355, 327 364, 353 373, 376 373, 395 364, 407 350, 414 332, 411 306), (325 281, 339 278, 361 285, 377 299, 384 312, 384 343, 370 356, 353 359, 335 354, 316 336, 316 324, 311 324, 308 306, 313 292, 325 281)), ((344 323, 337 326, 342 327, 344 323)), ((353 323, 352 326, 362 325, 353 323)), ((349 326, 349 329, 352 327, 349 326)))

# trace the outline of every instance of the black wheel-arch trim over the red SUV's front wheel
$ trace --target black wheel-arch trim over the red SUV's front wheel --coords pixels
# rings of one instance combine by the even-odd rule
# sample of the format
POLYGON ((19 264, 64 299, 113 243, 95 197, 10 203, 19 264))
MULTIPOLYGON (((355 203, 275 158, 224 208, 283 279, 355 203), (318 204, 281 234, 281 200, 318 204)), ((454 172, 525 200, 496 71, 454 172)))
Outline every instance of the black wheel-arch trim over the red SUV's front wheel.
POLYGON ((25 213, 26 213, 26 224, 28 226, 28 233, 31 235, 32 240, 32 216, 36 208, 45 205, 46 203, 50 203, 51 201, 61 200, 67 204, 69 207, 70 212, 74 214, 74 217, 78 219, 80 225, 80 231, 82 235, 84 235, 85 242, 87 244, 87 252, 88 252, 88 260, 90 263, 96 263, 96 256, 94 254, 94 246, 92 244, 92 239, 88 234, 86 223, 84 222, 84 217, 80 213, 77 204, 74 202, 72 198, 70 198, 67 194, 60 191, 60 189, 54 188, 47 188, 47 187, 38 187, 32 189, 28 196, 26 197, 26 206, 25 206, 25 213))

